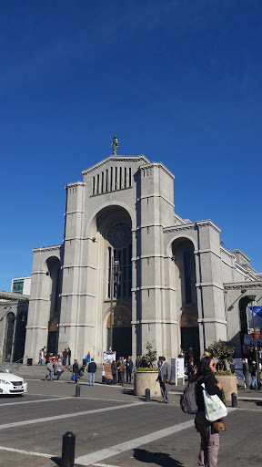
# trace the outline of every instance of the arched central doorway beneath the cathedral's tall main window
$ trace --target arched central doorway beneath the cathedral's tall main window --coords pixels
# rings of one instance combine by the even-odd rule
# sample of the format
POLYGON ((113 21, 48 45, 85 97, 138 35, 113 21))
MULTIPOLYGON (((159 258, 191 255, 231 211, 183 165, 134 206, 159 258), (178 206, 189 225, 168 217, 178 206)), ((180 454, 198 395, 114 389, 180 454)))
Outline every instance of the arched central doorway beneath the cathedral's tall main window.
MULTIPOLYGON (((115 306, 112 315, 113 350, 116 351, 116 358, 127 358, 132 355, 131 311, 126 306, 115 306)), ((110 318, 109 312, 106 320, 107 350, 110 347, 110 318)))

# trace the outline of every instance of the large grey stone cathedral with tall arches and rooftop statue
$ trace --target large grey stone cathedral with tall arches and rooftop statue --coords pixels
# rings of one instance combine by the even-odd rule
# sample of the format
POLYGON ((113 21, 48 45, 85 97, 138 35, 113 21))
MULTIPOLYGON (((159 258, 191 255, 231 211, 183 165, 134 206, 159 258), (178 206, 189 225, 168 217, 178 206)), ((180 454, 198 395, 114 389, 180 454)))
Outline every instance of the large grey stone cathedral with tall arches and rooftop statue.
POLYGON ((115 147, 82 175, 65 186, 63 244, 33 250, 25 356, 70 347, 101 363, 106 350, 135 359, 150 342, 167 359, 188 347, 199 357, 221 339, 241 357, 247 305, 262 295, 247 255, 228 251, 211 220, 175 213, 161 162, 115 147))

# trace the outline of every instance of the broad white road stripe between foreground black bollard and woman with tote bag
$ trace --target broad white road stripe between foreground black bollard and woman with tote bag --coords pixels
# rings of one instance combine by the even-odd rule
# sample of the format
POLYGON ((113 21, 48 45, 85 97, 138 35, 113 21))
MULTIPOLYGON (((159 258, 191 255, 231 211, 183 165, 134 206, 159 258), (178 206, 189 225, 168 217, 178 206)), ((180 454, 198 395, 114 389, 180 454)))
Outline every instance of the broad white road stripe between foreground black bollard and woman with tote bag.
POLYGON ((166 436, 174 434, 177 431, 182 431, 186 430, 187 428, 191 428, 194 426, 194 424, 194 420, 184 421, 183 423, 173 425, 172 427, 165 428, 164 430, 155 431, 153 433, 146 434, 145 436, 140 436, 135 440, 122 442, 121 444, 116 444, 116 446, 112 446, 111 448, 102 449, 101 451, 86 454, 86 456, 77 457, 76 463, 79 463, 81 465, 96 464, 96 462, 103 461, 108 457, 116 456, 121 452, 130 451, 131 449, 135 449, 138 446, 142 446, 143 444, 159 440, 160 438, 165 438, 166 436))

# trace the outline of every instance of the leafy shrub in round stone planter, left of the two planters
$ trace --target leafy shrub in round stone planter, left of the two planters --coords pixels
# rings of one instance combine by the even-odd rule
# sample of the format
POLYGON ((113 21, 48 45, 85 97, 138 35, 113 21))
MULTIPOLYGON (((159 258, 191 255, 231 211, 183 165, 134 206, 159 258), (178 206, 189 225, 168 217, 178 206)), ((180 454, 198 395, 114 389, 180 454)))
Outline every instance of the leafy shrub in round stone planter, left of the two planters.
POLYGON ((145 396, 146 389, 150 389, 151 396, 160 397, 160 386, 156 381, 158 376, 158 368, 156 367, 156 350, 153 350, 150 342, 146 343, 146 354, 144 356, 143 368, 136 368, 134 381, 135 396, 145 396))

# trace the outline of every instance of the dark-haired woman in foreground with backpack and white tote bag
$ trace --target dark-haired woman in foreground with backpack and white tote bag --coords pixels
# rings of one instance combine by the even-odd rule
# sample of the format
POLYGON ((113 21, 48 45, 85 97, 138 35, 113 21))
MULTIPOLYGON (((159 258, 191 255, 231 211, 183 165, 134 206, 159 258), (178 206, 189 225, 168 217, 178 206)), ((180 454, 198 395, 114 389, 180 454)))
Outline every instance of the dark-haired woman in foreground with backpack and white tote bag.
POLYGON ((203 398, 202 383, 205 383, 207 393, 214 396, 217 394, 220 400, 222 396, 221 383, 217 382, 214 372, 216 364, 211 357, 201 358, 196 373, 196 430, 200 433, 200 451, 198 455, 198 467, 217 467, 217 454, 219 449, 219 434, 213 427, 212 421, 206 419, 205 402, 203 398))

